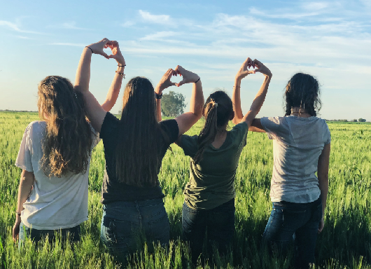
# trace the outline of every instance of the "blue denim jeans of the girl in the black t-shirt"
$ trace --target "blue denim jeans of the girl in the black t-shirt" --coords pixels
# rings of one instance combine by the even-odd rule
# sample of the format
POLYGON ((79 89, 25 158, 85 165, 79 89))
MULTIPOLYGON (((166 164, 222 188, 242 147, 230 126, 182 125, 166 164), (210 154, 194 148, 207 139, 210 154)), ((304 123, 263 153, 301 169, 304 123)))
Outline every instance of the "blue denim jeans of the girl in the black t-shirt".
POLYGON ((112 202, 103 206, 101 240, 125 263, 126 256, 140 250, 147 242, 169 244, 170 224, 162 199, 112 202))

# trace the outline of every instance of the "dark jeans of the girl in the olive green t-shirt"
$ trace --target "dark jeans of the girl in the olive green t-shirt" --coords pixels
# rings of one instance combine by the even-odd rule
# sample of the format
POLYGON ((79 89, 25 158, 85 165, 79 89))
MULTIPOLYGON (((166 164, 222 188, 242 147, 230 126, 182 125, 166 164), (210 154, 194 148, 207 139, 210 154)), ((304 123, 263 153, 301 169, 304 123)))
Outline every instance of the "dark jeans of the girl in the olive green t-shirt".
POLYGON ((209 247, 216 244, 221 254, 229 249, 235 233, 235 198, 214 209, 197 210, 183 204, 183 239, 190 242, 193 263, 202 253, 205 233, 209 247))

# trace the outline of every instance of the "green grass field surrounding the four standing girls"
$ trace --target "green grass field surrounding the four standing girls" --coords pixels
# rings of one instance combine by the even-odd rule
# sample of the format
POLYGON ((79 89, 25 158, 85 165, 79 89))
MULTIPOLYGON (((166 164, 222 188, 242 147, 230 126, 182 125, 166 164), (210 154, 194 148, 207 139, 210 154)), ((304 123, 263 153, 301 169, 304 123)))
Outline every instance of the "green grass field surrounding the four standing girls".
MULTIPOLYGON (((103 144, 99 143, 90 165, 89 220, 82 224, 82 240, 62 249, 30 241, 18 251, 11 238, 15 221, 21 170, 14 166, 25 127, 38 120, 37 113, 0 112, 0 267, 1 268, 116 268, 114 259, 99 242, 104 174, 103 144)), ((202 121, 189 134, 200 132, 202 121)), ((332 135, 330 191, 325 228, 318 236, 316 267, 371 268, 371 124, 329 123, 332 135)), ((191 268, 186 244, 181 242, 181 206, 188 181, 189 159, 172 145, 162 161, 160 184, 170 219, 172 242, 168 250, 139 251, 128 268, 191 268)), ((292 258, 269 256, 260 240, 271 210, 272 142, 267 135, 249 133, 241 154, 235 186, 236 233, 234 251, 221 258, 209 256, 200 268, 291 268, 292 258)))

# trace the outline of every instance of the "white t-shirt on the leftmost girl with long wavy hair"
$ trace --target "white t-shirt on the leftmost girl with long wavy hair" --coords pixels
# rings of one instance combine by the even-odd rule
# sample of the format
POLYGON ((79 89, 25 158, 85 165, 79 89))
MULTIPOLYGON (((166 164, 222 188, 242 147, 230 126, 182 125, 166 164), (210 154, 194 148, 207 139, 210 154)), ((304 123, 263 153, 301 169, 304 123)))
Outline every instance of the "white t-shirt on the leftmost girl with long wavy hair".
MULTIPOLYGON (((41 140, 45 135, 45 121, 30 123, 23 135, 15 166, 34 172, 34 188, 23 204, 22 223, 38 230, 72 228, 87 220, 87 186, 90 158, 85 174, 67 172, 63 177, 47 177, 39 162, 43 157, 41 140)), ((99 135, 92 128, 93 144, 99 135)))

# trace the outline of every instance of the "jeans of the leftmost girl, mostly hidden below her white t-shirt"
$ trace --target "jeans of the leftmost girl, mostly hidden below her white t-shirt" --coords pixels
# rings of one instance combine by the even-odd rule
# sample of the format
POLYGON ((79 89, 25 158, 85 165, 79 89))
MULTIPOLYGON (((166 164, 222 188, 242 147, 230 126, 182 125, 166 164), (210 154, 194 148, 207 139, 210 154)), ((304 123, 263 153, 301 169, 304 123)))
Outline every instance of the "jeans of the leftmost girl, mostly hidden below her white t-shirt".
POLYGON ((70 242, 80 241, 80 225, 60 230, 36 230, 34 228, 28 228, 21 222, 18 247, 21 247, 26 237, 30 237, 37 244, 46 235, 49 235, 49 243, 52 244, 52 241, 55 240, 55 233, 60 233, 63 241, 66 240, 67 236, 69 236, 70 242))

